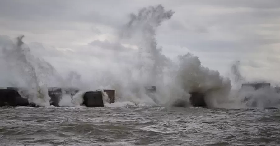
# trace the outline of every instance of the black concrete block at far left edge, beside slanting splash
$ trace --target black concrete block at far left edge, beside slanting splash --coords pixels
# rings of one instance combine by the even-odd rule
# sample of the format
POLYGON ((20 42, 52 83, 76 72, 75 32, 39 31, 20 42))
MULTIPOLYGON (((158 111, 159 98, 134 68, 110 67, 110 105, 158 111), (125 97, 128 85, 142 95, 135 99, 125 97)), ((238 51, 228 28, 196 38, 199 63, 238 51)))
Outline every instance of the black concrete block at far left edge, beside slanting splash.
POLYGON ((0 89, 0 106, 28 106, 28 99, 22 98, 16 90, 0 89))

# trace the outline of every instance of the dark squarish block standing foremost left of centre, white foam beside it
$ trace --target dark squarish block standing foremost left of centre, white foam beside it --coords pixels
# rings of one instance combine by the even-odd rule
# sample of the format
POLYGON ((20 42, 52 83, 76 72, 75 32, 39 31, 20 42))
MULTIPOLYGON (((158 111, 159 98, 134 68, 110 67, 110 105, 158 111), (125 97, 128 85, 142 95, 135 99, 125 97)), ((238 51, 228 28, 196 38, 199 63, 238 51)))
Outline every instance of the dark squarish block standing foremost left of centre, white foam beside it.
POLYGON ((84 94, 84 103, 86 107, 104 107, 101 91, 88 91, 84 94))

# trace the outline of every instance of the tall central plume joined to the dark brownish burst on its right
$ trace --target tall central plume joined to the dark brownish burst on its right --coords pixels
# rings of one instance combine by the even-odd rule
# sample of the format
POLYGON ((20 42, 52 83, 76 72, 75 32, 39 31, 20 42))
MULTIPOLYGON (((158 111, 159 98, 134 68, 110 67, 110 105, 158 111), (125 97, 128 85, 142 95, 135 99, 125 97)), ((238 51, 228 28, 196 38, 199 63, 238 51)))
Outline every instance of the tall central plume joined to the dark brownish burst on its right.
POLYGON ((204 68, 199 59, 190 54, 181 56, 179 64, 172 62, 157 47, 156 27, 173 14, 173 11, 166 11, 161 5, 143 8, 138 14, 131 14, 121 38, 139 48, 135 54, 136 63, 129 66, 130 71, 136 72, 136 75, 127 75, 130 78, 119 81, 121 83, 117 88, 121 92, 117 95, 134 102, 172 105, 182 99, 187 104, 189 91, 198 90, 206 93, 211 107, 217 107, 231 89, 230 80, 222 78, 217 71, 204 68), (144 90, 144 86, 151 85, 157 87, 153 99, 147 97, 144 90))

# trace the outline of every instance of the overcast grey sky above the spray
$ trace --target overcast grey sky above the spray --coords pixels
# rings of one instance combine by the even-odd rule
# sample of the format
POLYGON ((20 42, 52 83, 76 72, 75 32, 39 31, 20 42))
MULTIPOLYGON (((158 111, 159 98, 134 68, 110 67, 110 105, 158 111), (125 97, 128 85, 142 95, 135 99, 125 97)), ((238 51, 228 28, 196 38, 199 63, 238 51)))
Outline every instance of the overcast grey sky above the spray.
POLYGON ((247 80, 280 82, 279 0, 1 0, 0 43, 23 34, 60 70, 106 68, 114 51, 135 49, 116 43, 130 14, 158 4, 175 12, 156 28, 167 57, 191 52, 224 76, 238 60, 247 80))

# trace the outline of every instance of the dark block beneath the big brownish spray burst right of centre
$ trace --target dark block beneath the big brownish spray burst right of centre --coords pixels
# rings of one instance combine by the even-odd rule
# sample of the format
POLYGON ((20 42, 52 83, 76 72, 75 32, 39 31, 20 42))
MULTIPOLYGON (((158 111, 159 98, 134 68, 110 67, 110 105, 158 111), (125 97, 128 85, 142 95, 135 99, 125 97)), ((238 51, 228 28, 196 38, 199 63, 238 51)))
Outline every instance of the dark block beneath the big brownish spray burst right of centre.
POLYGON ((207 108, 205 99, 204 99, 204 94, 200 92, 190 92, 189 93, 191 97, 189 98, 189 101, 192 106, 194 107, 204 107, 207 108))

